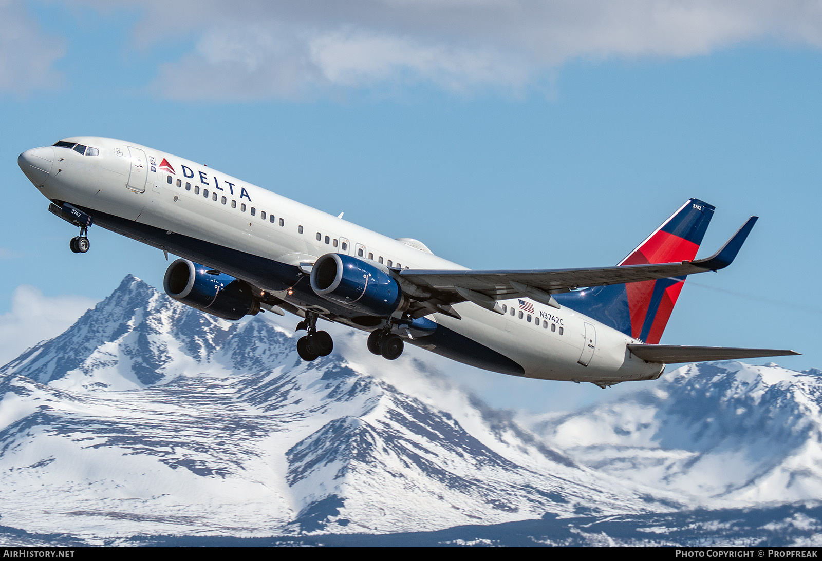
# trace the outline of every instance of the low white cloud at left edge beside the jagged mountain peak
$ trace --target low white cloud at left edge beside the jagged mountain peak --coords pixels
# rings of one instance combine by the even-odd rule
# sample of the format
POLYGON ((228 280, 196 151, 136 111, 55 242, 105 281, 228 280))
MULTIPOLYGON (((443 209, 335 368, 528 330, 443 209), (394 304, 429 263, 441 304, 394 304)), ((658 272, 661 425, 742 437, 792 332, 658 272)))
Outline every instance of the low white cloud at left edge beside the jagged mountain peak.
POLYGON ((0 315, 0 366, 40 341, 56 337, 94 306, 95 301, 86 297, 45 297, 27 284, 17 287, 12 310, 0 315))

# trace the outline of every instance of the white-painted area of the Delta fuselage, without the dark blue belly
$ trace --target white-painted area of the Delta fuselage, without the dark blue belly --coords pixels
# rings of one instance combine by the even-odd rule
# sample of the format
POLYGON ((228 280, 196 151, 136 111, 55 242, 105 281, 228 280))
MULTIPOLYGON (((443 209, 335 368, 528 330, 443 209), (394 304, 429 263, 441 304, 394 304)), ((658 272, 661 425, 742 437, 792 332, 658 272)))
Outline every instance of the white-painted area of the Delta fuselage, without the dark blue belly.
MULTIPOLYGON (((402 269, 465 269, 425 251, 421 244, 418 248, 410 245, 413 241, 382 236, 173 154, 107 138, 67 140, 93 146, 99 154, 58 147, 30 150, 42 151, 41 168, 48 167, 48 150, 53 150, 52 168, 44 170, 48 177, 38 185, 50 200, 284 264, 310 266, 320 255, 344 253, 385 264, 390 260, 402 269), (161 167, 164 161, 169 166, 161 167)), ((279 285, 260 288, 291 301, 279 285)), ((556 309, 523 300, 525 309, 519 299, 500 301, 504 315, 463 302, 454 306, 461 320, 441 314, 429 317, 509 357, 533 378, 614 384, 654 379, 662 373, 662 365, 626 350, 627 343, 640 343, 636 339, 565 306, 556 309)), ((291 303, 300 306, 299 301, 291 303)), ((425 347, 424 341, 418 344, 425 347)))

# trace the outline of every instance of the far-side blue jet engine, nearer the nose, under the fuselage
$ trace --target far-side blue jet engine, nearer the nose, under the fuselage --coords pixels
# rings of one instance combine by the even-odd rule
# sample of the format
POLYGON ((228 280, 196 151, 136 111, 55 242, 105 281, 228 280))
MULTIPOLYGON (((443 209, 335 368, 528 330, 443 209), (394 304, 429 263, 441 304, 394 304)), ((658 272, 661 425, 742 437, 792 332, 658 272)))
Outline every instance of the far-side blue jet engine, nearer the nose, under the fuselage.
POLYGON ((248 283, 187 259, 169 265, 163 287, 174 300, 224 320, 239 320, 260 311, 260 302, 248 283))

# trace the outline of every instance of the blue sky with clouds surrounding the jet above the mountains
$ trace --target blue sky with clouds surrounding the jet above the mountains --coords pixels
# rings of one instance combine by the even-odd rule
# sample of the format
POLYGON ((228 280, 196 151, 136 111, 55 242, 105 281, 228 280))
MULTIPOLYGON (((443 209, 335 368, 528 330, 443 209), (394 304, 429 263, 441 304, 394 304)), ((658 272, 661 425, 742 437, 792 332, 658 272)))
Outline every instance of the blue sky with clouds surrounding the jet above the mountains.
MULTIPOLYGON (((717 207, 704 256, 756 214, 731 268, 689 279, 662 343, 822 367, 808 2, 81 0, 0 2, 0 21, 0 361, 127 273, 162 283, 163 255, 111 232, 72 254, 74 229, 17 168, 24 149, 100 135, 473 269, 616 264, 690 196, 717 207)), ((464 376, 535 410, 601 391, 464 376)))

